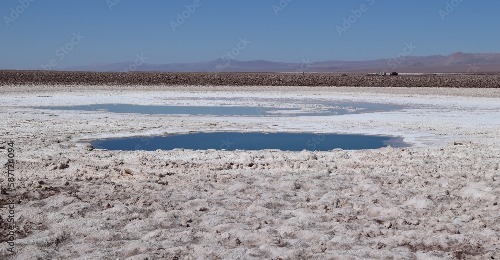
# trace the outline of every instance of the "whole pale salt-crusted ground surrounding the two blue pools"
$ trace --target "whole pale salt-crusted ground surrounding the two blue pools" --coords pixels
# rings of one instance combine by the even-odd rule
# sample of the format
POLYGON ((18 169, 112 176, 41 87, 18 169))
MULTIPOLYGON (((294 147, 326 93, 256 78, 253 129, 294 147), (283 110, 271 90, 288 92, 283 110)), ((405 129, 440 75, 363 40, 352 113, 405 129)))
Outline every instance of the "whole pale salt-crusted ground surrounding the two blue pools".
MULTIPOLYGON (((16 253, 3 242, 1 259, 500 259, 498 89, 7 85, 0 92, 5 162, 7 141, 15 143, 18 226, 16 253), (289 107, 323 99, 405 108, 278 118, 29 108, 289 107), (81 143, 224 130, 388 134, 413 147, 117 152, 81 143)), ((1 195, 2 234, 6 203, 1 195)))

